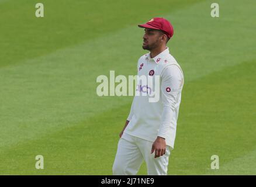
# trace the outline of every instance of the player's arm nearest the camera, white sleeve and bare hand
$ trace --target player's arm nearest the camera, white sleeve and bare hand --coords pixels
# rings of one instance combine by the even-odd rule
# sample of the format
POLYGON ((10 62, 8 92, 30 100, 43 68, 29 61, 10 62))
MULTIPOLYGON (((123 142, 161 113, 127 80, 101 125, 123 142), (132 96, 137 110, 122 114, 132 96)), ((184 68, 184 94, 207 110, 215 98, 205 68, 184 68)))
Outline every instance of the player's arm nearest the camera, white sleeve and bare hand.
POLYGON ((181 91, 184 78, 177 65, 169 65, 162 72, 162 120, 156 140, 154 141, 151 153, 155 151, 155 158, 165 154, 168 129, 171 128, 171 120, 174 114, 178 93, 181 91))

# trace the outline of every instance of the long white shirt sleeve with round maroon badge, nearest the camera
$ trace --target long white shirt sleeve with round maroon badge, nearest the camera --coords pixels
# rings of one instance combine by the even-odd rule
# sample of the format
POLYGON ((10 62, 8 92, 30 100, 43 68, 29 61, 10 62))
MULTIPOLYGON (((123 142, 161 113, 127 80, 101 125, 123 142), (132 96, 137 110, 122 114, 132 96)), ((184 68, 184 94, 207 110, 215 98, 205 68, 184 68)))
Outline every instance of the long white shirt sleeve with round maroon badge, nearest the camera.
POLYGON ((168 129, 171 127, 175 105, 178 102, 178 95, 182 91, 183 84, 184 76, 177 65, 168 65, 162 71, 161 96, 163 110, 157 136, 167 137, 168 129))

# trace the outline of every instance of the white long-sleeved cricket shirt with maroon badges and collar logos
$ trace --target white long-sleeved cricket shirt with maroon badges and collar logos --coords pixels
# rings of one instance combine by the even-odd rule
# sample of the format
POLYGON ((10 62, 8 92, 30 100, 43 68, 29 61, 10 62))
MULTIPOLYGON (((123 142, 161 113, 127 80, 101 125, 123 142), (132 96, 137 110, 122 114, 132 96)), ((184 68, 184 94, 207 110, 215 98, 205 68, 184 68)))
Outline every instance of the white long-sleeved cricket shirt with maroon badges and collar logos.
MULTIPOLYGON (((122 137, 126 138, 127 134, 130 134, 144 140, 155 141, 157 136, 160 136, 165 138, 166 144, 173 149, 184 85, 181 67, 169 54, 167 47, 154 58, 150 57, 150 53, 141 56, 137 70, 139 76, 160 75, 160 99, 158 102, 149 102, 148 96, 134 96, 130 114, 127 117, 130 122, 122 137)), ((147 85, 141 85, 140 82, 136 88, 142 92, 151 92, 153 89, 147 85)))

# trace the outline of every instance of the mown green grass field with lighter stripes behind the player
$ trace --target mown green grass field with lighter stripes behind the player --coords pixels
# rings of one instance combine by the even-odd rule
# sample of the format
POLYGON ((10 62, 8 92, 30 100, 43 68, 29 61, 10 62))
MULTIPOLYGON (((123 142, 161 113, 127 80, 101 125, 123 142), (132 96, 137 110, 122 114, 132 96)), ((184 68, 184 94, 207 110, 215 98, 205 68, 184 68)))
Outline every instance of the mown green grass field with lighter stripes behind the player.
POLYGON ((168 174, 256 175, 255 1, 37 2, 0 0, 0 174, 112 175, 133 97, 99 97, 96 77, 136 74, 137 24, 163 16, 185 76, 168 174))

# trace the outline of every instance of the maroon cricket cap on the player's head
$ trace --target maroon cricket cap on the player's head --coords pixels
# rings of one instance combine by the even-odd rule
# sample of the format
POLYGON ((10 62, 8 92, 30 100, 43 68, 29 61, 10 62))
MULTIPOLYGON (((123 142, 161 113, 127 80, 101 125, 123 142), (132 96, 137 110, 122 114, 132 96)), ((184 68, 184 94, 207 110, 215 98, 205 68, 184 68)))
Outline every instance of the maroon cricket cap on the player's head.
POLYGON ((169 38, 171 38, 174 34, 174 27, 172 27, 171 23, 164 18, 153 18, 150 19, 147 23, 138 26, 148 29, 162 30, 167 34, 167 37, 169 38))

